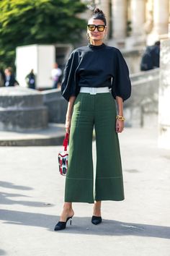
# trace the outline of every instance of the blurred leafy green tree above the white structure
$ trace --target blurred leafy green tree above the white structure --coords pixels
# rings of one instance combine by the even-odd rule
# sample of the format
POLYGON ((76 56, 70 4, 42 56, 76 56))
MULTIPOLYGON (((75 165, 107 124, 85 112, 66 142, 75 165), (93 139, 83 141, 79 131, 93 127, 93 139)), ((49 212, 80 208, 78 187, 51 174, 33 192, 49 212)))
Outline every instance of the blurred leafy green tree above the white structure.
POLYGON ((1 0, 1 64, 14 66, 17 46, 32 43, 73 43, 80 40, 86 22, 77 14, 80 0, 1 0))

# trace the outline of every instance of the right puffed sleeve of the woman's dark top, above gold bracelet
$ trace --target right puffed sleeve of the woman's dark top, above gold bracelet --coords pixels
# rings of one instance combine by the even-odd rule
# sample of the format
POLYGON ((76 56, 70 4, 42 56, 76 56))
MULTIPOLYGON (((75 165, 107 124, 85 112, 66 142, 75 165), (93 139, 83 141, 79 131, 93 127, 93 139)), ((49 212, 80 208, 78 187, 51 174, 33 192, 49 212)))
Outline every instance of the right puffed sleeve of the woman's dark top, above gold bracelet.
POLYGON ((130 98, 131 82, 129 78, 128 66, 121 52, 117 49, 115 57, 115 75, 112 80, 112 96, 119 96, 123 101, 130 98))

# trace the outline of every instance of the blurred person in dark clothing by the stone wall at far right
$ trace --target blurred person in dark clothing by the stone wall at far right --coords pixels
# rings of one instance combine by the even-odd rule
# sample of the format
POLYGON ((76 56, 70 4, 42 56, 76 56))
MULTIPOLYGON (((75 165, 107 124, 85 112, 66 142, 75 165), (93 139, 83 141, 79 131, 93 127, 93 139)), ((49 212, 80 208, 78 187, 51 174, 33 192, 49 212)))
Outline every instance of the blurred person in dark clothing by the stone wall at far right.
POLYGON ((154 43, 154 46, 147 46, 146 51, 144 52, 140 62, 140 70, 147 71, 158 68, 159 57, 160 41, 156 41, 156 43, 154 43))

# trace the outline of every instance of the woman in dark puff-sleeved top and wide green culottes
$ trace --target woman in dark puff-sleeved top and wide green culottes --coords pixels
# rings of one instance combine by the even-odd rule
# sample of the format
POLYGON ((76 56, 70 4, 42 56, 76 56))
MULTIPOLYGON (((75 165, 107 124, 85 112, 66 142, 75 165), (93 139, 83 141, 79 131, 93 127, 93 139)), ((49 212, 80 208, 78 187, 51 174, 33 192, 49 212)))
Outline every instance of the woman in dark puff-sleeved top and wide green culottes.
POLYGON ((124 200, 117 133, 124 127, 123 101, 130 97, 131 85, 122 54, 103 43, 106 33, 104 14, 95 9, 87 25, 89 45, 71 53, 63 74, 61 93, 68 101, 66 132, 70 143, 65 202, 55 231, 65 229, 73 217, 72 202, 95 200, 91 222, 97 225, 102 222, 102 200, 124 200), (93 128, 97 145, 94 193, 93 128))

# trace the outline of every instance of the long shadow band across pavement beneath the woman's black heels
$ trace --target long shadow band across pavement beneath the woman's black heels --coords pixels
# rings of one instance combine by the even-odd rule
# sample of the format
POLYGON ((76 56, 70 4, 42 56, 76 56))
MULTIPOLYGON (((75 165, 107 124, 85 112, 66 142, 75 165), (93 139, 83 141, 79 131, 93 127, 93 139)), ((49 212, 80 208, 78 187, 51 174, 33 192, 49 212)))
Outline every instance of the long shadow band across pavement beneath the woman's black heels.
MULTIPOLYGON (((27 213, 15 210, 0 210, 0 219, 4 223, 40 226, 53 231, 59 216, 46 215, 42 213, 27 213)), ((53 231, 54 232, 54 231, 53 231)), ((170 227, 154 226, 141 223, 125 223, 121 221, 103 220, 99 226, 94 226, 89 217, 74 217, 72 226, 67 225, 67 229, 58 231, 70 234, 91 234, 105 236, 148 236, 170 239, 170 227)), ((56 232, 56 233, 58 233, 56 232)), ((55 233, 55 232, 54 232, 55 233)))

